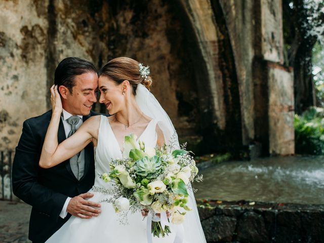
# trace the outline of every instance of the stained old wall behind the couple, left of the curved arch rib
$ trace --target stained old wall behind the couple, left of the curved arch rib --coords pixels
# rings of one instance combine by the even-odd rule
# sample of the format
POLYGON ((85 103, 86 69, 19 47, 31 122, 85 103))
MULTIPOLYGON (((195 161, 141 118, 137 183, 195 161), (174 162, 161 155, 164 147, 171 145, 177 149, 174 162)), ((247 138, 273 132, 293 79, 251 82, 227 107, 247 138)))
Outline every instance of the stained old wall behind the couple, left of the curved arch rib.
MULTIPOLYGON (((3 1, 0 8, 0 149, 14 149, 23 120, 49 109, 55 68, 68 56, 98 67, 118 56, 149 65, 153 94, 179 133, 199 140, 197 82, 188 68, 192 43, 177 18, 179 5, 26 0, 3 1)), ((95 110, 105 112, 99 103, 95 110)))

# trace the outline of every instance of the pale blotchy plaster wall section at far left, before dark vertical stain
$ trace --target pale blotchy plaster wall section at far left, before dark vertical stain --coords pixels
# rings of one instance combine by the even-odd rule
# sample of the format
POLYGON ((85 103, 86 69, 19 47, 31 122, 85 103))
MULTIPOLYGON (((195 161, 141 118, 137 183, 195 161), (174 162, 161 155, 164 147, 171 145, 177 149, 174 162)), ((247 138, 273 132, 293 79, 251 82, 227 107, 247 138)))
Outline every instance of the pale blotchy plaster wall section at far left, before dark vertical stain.
POLYGON ((23 121, 47 109, 48 21, 42 7, 0 2, 0 149, 14 148, 23 121))

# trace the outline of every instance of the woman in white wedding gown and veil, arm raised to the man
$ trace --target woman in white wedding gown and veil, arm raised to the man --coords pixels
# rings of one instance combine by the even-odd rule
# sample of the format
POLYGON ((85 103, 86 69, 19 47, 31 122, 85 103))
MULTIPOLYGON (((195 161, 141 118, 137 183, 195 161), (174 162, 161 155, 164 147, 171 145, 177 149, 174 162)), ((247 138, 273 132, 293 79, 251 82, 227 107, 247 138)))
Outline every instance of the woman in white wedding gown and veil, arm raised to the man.
MULTIPOLYGON (((57 142, 57 131, 62 104, 57 87, 51 88, 52 119, 45 137, 39 166, 54 167, 77 154, 90 142, 95 149, 96 178, 94 194, 89 200, 100 203, 109 194, 96 188, 111 189, 112 182, 105 183, 99 175, 109 172, 109 161, 123 158, 125 136, 133 133, 151 147, 169 143, 175 129, 164 109, 149 92, 152 79, 148 67, 137 61, 119 57, 109 61, 99 72, 99 102, 105 104, 111 116, 93 116, 69 138, 57 142)), ((124 155, 125 156, 125 155, 124 155)), ((119 223, 119 215, 110 203, 101 204, 101 214, 91 219, 72 216, 46 242, 206 242, 201 228, 193 193, 189 190, 189 203, 193 210, 187 212, 183 224, 170 225, 166 237, 153 237, 140 212, 128 214, 128 224, 119 223)), ((145 214, 145 213, 144 213, 145 214)), ((171 215, 172 217, 172 215, 171 215)))

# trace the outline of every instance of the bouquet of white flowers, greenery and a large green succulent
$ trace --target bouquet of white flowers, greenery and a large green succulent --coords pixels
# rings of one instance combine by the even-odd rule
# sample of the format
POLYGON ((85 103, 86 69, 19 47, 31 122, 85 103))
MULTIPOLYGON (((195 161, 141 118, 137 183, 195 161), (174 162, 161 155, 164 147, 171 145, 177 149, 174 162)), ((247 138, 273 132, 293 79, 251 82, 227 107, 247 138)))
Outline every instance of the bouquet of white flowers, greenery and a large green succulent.
POLYGON ((151 232, 165 237, 171 232, 170 219, 174 224, 181 224, 186 211, 191 210, 187 206, 189 182, 202 178, 196 177, 195 161, 184 147, 152 148, 136 139, 134 134, 125 137, 124 158, 110 161, 111 171, 101 178, 115 182, 113 196, 108 201, 116 212, 149 210, 153 219, 151 232), (170 219, 166 211, 170 212, 170 219), (160 213, 160 218, 155 213, 160 213))

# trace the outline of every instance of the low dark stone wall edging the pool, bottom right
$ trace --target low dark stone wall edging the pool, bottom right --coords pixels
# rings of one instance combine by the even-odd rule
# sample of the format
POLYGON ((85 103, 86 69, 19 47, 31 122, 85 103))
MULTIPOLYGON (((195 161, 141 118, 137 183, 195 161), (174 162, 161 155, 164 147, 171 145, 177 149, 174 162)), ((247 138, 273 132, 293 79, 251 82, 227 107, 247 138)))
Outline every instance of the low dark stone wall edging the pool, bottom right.
POLYGON ((198 201, 206 240, 216 242, 324 242, 324 206, 198 201))

